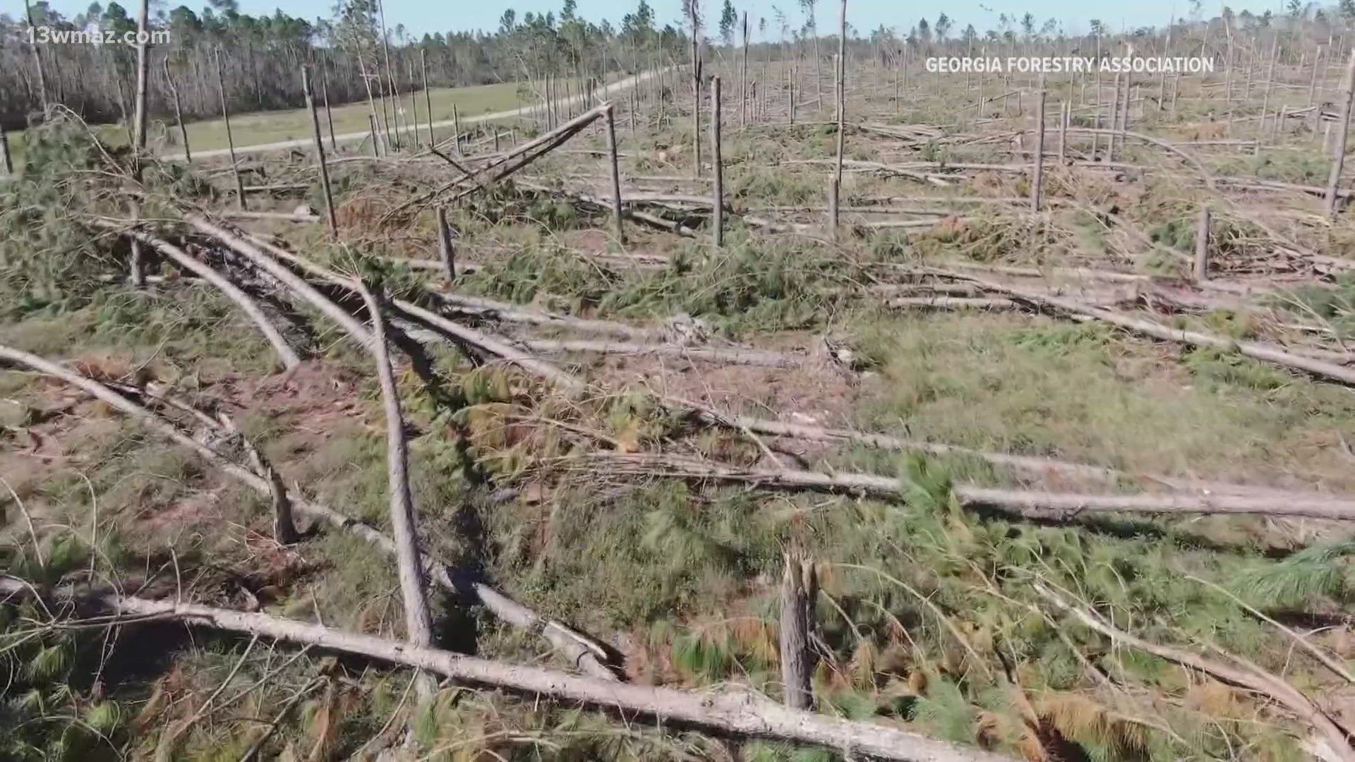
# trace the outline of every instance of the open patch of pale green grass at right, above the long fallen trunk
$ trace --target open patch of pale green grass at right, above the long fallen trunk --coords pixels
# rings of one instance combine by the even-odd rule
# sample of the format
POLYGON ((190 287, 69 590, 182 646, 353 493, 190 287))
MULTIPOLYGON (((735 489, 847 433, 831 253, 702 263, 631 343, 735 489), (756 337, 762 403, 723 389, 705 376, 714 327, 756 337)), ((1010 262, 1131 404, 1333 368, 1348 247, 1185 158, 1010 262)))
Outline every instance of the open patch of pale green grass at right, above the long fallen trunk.
POLYGON ((1318 442, 1355 414, 1348 395, 1247 358, 1186 353, 1182 370, 1173 347, 1014 315, 883 320, 863 343, 885 389, 870 428, 1131 472, 1347 483, 1318 442))

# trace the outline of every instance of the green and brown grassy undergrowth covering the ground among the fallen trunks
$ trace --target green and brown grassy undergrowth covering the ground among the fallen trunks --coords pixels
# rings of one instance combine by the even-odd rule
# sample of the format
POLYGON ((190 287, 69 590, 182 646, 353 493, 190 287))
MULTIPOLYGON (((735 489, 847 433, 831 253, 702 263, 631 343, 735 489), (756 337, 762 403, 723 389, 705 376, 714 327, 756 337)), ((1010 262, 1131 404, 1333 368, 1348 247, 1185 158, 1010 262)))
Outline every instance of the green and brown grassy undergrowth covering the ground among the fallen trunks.
MULTIPOLYGON (((682 144, 683 129, 627 138, 629 168, 672 174, 649 149, 682 144)), ((818 168, 778 161, 821 156, 832 137, 818 127, 804 140, 749 141, 732 132, 728 187, 740 203, 821 203, 818 168)), ((600 138, 581 140, 596 146, 600 138)), ((581 167, 573 155, 551 156, 533 172, 564 179, 581 167)), ((320 229, 286 230, 287 237, 318 259, 383 275, 393 292, 419 298, 425 274, 356 258, 430 256, 430 216, 375 225, 373 209, 379 216, 381 203, 397 193, 394 183, 371 169, 343 174, 346 245, 325 244, 320 229)), ((1003 178, 984 182, 993 194, 1016 188, 1003 178)), ((1118 198, 1107 187, 1092 188, 1104 193, 1098 209, 1118 198)), ((57 186, 72 194, 83 188, 57 186)), ((900 193, 900 180, 854 174, 844 190, 847 198, 900 193)), ((1186 247, 1180 198, 1168 193, 1154 188, 1154 198, 1126 205, 1126 214, 1163 245, 1186 247)), ((14 240, 0 245, 0 262, 16 275, 5 287, 12 281, 27 294, 22 304, 11 300, 0 342, 79 358, 110 377, 153 377, 183 397, 215 403, 289 485, 295 481, 308 496, 385 527, 385 442, 370 359, 301 309, 314 359, 295 374, 268 376, 267 346, 210 289, 169 281, 133 292, 91 277, 115 271, 118 262, 104 241, 95 247, 80 228, 62 224, 69 198, 84 197, 53 191, 43 197, 47 217, 16 214, 14 240), (76 244, 107 259, 39 267, 76 244), (79 293, 72 293, 72 271, 83 275, 79 293)), ((734 683, 778 698, 778 578, 782 553, 795 548, 816 560, 824 591, 816 610, 822 659, 814 674, 824 713, 879 719, 1012 757, 1038 758, 1028 753, 1031 727, 1041 727, 1041 742, 1062 739, 1085 755, 1069 758, 1209 759, 1234 757, 1237 748, 1276 762, 1297 758, 1294 725, 1262 701, 1108 644, 1054 613, 1034 583, 1057 587, 1148 640, 1201 649, 1217 644, 1316 691, 1322 678, 1285 636, 1187 575, 1217 582, 1285 621, 1337 617, 1355 595, 1352 549, 1325 541, 1321 527, 1217 517, 1080 517, 1064 526, 1008 521, 961 510, 953 485, 1085 485, 1007 473, 972 458, 835 452, 806 442, 774 443, 786 445, 778 457, 787 465, 897 477, 908 499, 615 475, 580 458, 596 449, 661 449, 741 465, 762 457, 744 434, 694 431, 638 389, 621 389, 644 374, 646 385, 686 380, 703 392, 725 392, 720 386, 728 382, 729 407, 743 403, 743 411, 760 416, 767 407, 791 419, 836 404, 840 420, 824 423, 1135 473, 1355 487, 1336 446, 1336 433, 1355 415, 1346 389, 1230 353, 1186 351, 1104 327, 1022 313, 897 315, 843 294, 871 285, 879 260, 958 255, 1057 264, 1087 255, 1075 240, 1081 230, 1060 229, 1060 218, 1046 228, 1009 214, 977 216, 980 224, 954 233, 848 236, 843 245, 820 240, 816 230, 753 236, 736 224, 718 252, 703 240, 675 241, 631 226, 629 251, 673 256, 668 267, 633 271, 580 255, 619 251, 604 212, 542 201, 511 183, 467 199, 454 221, 459 251, 480 271, 463 275, 458 290, 648 325, 687 312, 729 336, 797 347, 817 346, 820 334, 831 332, 869 361, 870 373, 848 377, 808 361, 776 378, 718 376, 699 365, 593 363, 584 373, 614 386, 565 399, 495 363, 473 369, 450 348, 435 351, 432 366, 446 385, 439 396, 412 373, 400 378, 423 541, 458 571, 482 575, 541 614, 623 651, 641 683, 734 683), (1030 245, 1035 236, 1043 247, 1030 245), (818 376, 827 392, 779 388, 818 376), (820 399, 829 395, 843 399, 820 399), (515 492, 504 496, 504 487, 515 492), (1104 687, 1093 674, 1118 687, 1104 687)), ((1098 233, 1087 224, 1091 233, 1083 237, 1098 233)), ((1095 252, 1106 258, 1125 245, 1111 232, 1099 243, 1104 248, 1095 252)), ((1339 320, 1348 312, 1348 290, 1340 282, 1302 292, 1293 310, 1339 320)), ((1224 310, 1182 320, 1234 336, 1263 328, 1224 310)), ((0 568, 43 580, 150 575, 163 594, 184 579, 186 598, 195 601, 245 607, 252 598, 268 613, 400 637, 394 565, 364 542, 327 530, 279 548, 268 540, 267 500, 122 416, 20 372, 0 373, 0 395, 8 405, 0 408, 0 473, 33 515, 45 556, 39 564, 24 522, 12 521, 5 500, 11 521, 0 526, 0 568)), ((180 422, 201 434, 187 416, 180 422)), ((434 606, 447 647, 560 666, 531 633, 455 597, 438 595, 434 606)), ((34 621, 41 611, 31 606, 0 607, 0 649, 8 649, 0 682, 14 686, 0 696, 0 724, 18 716, 26 724, 15 746, 33 743, 0 747, 0 755, 16 759, 115 758, 114 747, 148 758, 238 759, 291 697, 298 702, 263 757, 354 757, 369 739, 397 743, 411 724, 434 759, 728 754, 698 734, 618 727, 598 713, 459 686, 413 716, 406 671, 314 654, 293 662, 297 652, 287 647, 199 630, 187 640, 171 626, 125 628, 137 640, 115 643, 112 652, 153 652, 154 659, 136 673, 110 673, 117 679, 107 678, 95 698, 88 664, 104 654, 102 630, 53 629, 15 643, 34 621), (27 618, 5 618, 12 614, 27 618), (175 633, 178 640, 168 637, 175 633), (220 702, 203 709, 201 700, 222 683, 220 702), (66 729, 83 727, 70 719, 108 742, 66 729)), ((1336 643, 1322 633, 1310 637, 1336 643)), ((768 762, 839 758, 760 742, 744 743, 741 754, 768 762)))

